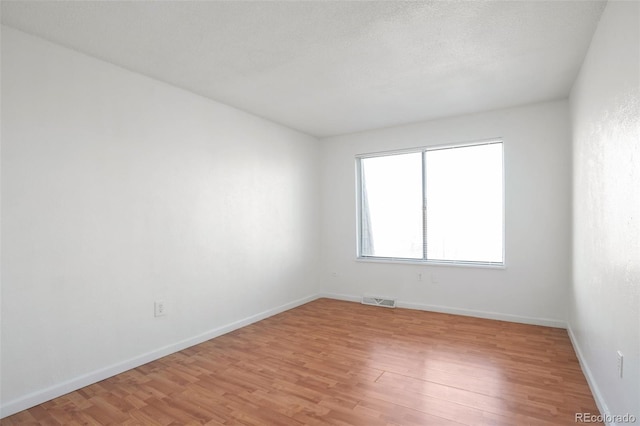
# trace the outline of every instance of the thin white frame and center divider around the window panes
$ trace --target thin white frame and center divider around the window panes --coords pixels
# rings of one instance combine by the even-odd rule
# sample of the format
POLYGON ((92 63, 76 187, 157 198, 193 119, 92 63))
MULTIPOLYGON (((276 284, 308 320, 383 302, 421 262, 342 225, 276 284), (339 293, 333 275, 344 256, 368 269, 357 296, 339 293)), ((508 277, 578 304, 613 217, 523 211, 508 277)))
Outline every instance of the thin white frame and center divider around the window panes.
POLYGON ((478 267, 478 268, 492 268, 492 269, 506 269, 506 212, 505 212, 505 204, 506 204, 506 193, 505 193, 505 143, 504 139, 501 137, 477 140, 472 142, 462 142, 462 143, 449 143, 449 144, 439 144, 439 145, 429 145, 429 146, 421 146, 414 148, 405 148, 405 149, 397 149, 390 151, 378 151, 378 152, 370 152, 364 154, 357 154, 355 156, 356 163, 356 260, 361 262, 372 262, 372 263, 401 263, 401 264, 413 264, 413 265, 444 265, 444 266, 463 266, 463 267, 478 267), (502 147, 502 262, 485 262, 485 261, 461 261, 461 260, 433 260, 427 259, 426 247, 424 250, 422 259, 413 259, 413 258, 402 258, 402 257, 383 257, 383 256, 369 256, 362 254, 362 205, 363 205, 363 194, 362 194, 362 160, 367 158, 375 158, 375 157, 387 157, 391 155, 401 155, 401 154, 411 154, 411 153, 421 153, 422 154, 422 200, 423 200, 423 227, 422 227, 422 238, 423 242, 426 241, 426 213, 424 213, 426 209, 426 205, 424 204, 424 200, 426 199, 426 184, 425 184, 425 156, 428 151, 437 151, 442 149, 451 149, 451 148, 464 148, 464 147, 472 147, 472 146, 482 146, 482 145, 492 145, 492 144, 500 144, 502 147))

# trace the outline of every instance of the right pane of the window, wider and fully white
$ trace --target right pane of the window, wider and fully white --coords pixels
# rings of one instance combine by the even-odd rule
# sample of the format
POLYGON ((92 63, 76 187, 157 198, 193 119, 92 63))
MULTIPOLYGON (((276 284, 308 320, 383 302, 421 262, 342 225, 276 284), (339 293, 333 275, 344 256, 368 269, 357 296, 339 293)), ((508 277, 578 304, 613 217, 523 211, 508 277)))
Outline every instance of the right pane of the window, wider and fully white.
POLYGON ((503 262, 502 144, 428 151, 427 258, 503 262))

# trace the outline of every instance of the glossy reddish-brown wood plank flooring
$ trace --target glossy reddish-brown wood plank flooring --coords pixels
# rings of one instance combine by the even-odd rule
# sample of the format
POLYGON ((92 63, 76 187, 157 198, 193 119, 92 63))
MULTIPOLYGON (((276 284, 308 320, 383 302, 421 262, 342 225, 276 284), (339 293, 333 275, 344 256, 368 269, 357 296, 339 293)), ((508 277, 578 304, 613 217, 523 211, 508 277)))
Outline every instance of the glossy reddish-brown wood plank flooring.
POLYGON ((569 425, 566 330, 319 299, 2 425, 569 425))

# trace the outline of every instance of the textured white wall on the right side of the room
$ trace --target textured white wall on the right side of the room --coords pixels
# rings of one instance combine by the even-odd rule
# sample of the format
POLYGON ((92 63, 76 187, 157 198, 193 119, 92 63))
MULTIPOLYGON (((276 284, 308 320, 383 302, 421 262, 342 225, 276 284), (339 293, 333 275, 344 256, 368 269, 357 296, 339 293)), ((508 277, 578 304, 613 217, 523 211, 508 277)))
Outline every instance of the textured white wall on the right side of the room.
POLYGON ((640 3, 610 1, 571 93, 569 328, 601 409, 640 421, 640 3), (624 354, 624 377, 616 351, 624 354))

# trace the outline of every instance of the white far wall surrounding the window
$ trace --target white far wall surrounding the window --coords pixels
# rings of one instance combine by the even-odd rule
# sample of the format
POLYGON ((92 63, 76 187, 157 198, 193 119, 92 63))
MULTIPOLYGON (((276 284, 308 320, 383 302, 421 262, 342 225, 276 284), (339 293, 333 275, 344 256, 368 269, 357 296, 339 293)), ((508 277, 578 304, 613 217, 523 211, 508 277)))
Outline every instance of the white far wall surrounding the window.
POLYGON ((563 326, 570 140, 565 101, 322 140, 321 288, 347 299, 371 293, 415 308, 563 326), (504 140, 506 269, 356 261, 356 154, 493 137, 504 140))

